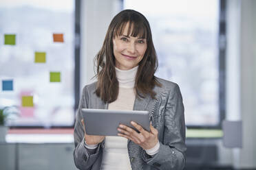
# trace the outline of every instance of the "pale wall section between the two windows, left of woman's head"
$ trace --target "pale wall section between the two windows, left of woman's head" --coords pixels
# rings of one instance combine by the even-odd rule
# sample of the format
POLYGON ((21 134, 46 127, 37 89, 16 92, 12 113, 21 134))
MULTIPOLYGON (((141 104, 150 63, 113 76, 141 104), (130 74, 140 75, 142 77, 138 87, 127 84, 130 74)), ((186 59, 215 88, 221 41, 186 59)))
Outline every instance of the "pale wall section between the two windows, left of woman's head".
MULTIPOLYGON (((121 10, 120 0, 83 0, 81 7, 81 89, 94 82, 94 57, 103 45, 111 19, 121 10)), ((81 90, 82 91, 82 90, 81 90)))

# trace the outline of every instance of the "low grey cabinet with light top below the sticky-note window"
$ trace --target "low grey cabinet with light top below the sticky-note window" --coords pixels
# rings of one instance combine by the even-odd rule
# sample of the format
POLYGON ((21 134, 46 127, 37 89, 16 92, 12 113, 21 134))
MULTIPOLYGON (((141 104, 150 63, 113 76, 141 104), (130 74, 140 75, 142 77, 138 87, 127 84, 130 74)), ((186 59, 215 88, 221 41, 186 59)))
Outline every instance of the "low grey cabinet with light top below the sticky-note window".
POLYGON ((74 139, 70 133, 9 132, 0 143, 1 169, 45 170, 76 169, 73 160, 74 139))

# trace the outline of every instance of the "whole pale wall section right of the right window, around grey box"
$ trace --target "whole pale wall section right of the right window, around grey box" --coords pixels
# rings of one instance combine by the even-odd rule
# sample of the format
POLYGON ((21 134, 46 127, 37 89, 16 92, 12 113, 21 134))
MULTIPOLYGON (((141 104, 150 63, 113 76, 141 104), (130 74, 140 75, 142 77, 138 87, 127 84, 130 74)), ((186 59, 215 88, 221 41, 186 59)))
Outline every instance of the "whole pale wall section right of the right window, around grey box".
POLYGON ((242 120, 242 149, 233 149, 237 169, 256 168, 256 1, 227 1, 226 116, 242 120))

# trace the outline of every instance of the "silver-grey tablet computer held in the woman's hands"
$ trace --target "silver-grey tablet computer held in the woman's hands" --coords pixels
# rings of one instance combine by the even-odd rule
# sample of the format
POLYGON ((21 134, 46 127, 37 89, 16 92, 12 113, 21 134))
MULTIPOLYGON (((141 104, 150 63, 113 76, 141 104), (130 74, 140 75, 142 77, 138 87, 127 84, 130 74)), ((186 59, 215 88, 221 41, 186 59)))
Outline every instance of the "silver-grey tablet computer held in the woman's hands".
POLYGON ((82 108, 82 112, 85 131, 89 135, 118 136, 117 128, 120 123, 136 130, 131 121, 135 121, 150 132, 148 111, 82 108))

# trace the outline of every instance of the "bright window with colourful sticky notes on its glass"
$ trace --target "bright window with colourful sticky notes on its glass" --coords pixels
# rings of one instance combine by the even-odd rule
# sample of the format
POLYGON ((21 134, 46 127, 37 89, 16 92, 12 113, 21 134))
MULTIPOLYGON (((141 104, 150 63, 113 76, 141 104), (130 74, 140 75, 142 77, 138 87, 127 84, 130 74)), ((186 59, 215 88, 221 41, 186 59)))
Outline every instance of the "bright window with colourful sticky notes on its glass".
POLYGON ((0 1, 0 108, 8 125, 73 125, 74 5, 0 1))

